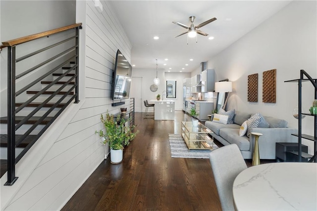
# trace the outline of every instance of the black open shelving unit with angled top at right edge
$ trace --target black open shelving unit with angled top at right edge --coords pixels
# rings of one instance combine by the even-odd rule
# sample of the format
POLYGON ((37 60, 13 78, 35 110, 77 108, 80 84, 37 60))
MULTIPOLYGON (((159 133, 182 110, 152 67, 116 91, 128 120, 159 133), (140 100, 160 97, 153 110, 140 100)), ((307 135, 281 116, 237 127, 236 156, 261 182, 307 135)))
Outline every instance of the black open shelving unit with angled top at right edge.
POLYGON ((316 162, 317 156, 317 114, 311 113, 302 113, 302 82, 311 82, 315 88, 315 98, 317 99, 317 79, 313 79, 305 70, 301 70, 300 79, 289 80, 284 82, 298 82, 298 134, 292 134, 293 136, 298 137, 298 152, 293 152, 294 155, 298 156, 299 162, 302 161, 302 158, 310 158, 309 162, 316 162), (306 78, 304 78, 304 76, 306 78), (314 117, 314 136, 302 134, 302 115, 313 116, 314 117), (314 141, 314 155, 309 155, 302 152, 302 138, 314 141))

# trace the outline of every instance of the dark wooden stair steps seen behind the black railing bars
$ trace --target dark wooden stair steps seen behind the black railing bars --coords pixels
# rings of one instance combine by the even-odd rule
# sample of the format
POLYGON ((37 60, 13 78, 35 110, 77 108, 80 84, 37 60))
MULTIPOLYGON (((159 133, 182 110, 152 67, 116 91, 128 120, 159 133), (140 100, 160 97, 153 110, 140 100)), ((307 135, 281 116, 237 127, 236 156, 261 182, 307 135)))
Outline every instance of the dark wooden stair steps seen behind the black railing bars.
MULTIPOLYGON (((48 77, 46 80, 43 80, 39 82, 41 84, 42 89, 44 89, 46 86, 51 84, 53 80, 56 80, 57 77, 61 76, 65 71, 70 70, 70 68, 75 64, 74 61, 69 62, 69 67, 62 67, 61 68, 61 73, 52 73, 51 77, 48 77), (48 80, 48 79, 53 79, 53 80, 48 80)), ((71 78, 74 77, 75 73, 74 70, 71 70, 71 73, 67 73, 64 76, 65 81, 58 81, 55 83, 55 85, 52 86, 52 88, 49 88, 48 90, 50 91, 45 91, 42 94, 40 94, 39 97, 36 98, 35 102, 32 102, 25 106, 23 109, 21 109, 19 112, 16 113, 15 116, 15 124, 20 124, 26 117, 34 111, 36 108, 41 106, 41 104, 47 100, 50 96, 56 92, 56 90, 61 89, 62 85, 65 85, 65 83, 71 78)), ((68 85, 65 86, 64 89, 69 90, 71 88, 71 85, 74 85, 74 79, 68 83, 68 85)), ((38 86, 40 87, 40 86, 38 86)), ((31 99, 34 97, 36 94, 39 94, 41 90, 27 90, 25 92, 27 99, 31 99)), ((74 98, 74 91, 71 91, 67 94, 67 91, 59 91, 56 93, 56 96, 53 97, 49 103, 46 103, 45 105, 42 106, 34 115, 32 115, 30 118, 28 118, 25 122, 23 122, 23 126, 21 126, 18 130, 15 131, 15 140, 16 140, 16 154, 15 156, 18 157, 19 154, 25 149, 25 148, 30 148, 36 141, 37 135, 40 133, 40 131, 48 124, 50 121, 52 121, 53 117, 57 114, 60 109, 62 109, 65 105, 66 102, 69 101, 71 98, 74 98), (61 97, 63 97, 65 94, 64 99, 62 99, 61 103, 57 104, 55 108, 48 114, 47 117, 41 119, 43 115, 48 112, 55 104, 57 101, 61 100, 61 97), (29 130, 34 124, 36 124, 38 121, 39 125, 32 131, 31 134, 27 136, 23 136, 23 134, 29 130), (31 146, 30 146, 31 145, 31 146)), ((25 102, 19 102, 15 103, 15 108, 17 109, 19 106, 22 106, 25 102)), ((0 124, 1 124, 1 132, 0 132, 0 148, 1 152, 3 150, 6 151, 7 148, 7 143, 8 143, 8 135, 7 133, 7 123, 8 123, 8 118, 7 116, 5 117, 0 117, 0 124)), ((2 153, 1 153, 2 154, 2 153)), ((1 164, 6 163, 6 153, 1 155, 1 164)), ((6 172, 6 167, 3 168, 1 165, 1 171, 0 171, 0 177, 6 172)))

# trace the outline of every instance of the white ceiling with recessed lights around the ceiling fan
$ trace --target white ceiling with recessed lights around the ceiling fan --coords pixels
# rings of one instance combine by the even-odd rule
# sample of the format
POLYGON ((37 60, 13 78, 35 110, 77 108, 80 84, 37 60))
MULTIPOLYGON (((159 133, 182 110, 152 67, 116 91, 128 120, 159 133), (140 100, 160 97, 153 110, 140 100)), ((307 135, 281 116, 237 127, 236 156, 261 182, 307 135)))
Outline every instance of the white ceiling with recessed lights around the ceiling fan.
MULTIPOLYGON (((110 4, 131 44, 131 64, 135 68, 164 68, 171 72, 192 72, 200 62, 208 61, 267 18, 286 6, 289 0, 112 0, 110 4), (216 17, 200 28, 209 36, 189 38, 186 29, 172 21, 190 26, 189 16, 196 16, 194 25, 216 17), (226 20, 230 18, 231 20, 226 20), (159 40, 153 37, 158 36, 159 40), (214 37, 209 40, 208 37, 214 37), (164 61, 168 58, 168 61, 164 61), (192 58, 193 61, 189 59, 192 58), (163 64, 166 63, 166 66, 163 64), (188 64, 188 66, 185 66, 188 64)), ((261 42, 261 40, 259 40, 261 42)))

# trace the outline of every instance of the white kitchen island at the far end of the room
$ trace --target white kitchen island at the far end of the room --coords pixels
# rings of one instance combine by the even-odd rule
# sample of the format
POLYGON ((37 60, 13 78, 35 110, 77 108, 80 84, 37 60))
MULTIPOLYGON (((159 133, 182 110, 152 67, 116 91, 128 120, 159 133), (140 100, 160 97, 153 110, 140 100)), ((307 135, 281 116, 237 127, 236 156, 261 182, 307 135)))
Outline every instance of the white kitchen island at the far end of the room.
POLYGON ((172 100, 150 100, 154 103, 154 119, 155 120, 174 120, 175 118, 175 102, 172 100))

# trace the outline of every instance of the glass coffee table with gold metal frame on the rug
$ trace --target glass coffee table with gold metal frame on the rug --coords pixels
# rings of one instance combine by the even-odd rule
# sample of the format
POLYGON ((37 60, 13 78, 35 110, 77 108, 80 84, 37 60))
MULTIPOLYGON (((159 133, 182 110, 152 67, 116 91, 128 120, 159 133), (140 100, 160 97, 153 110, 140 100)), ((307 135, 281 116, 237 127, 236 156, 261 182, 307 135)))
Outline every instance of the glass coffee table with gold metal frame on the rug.
POLYGON ((182 137, 189 150, 212 150, 213 139, 209 137, 213 133, 205 125, 198 123, 193 127, 192 122, 182 122, 182 137))

